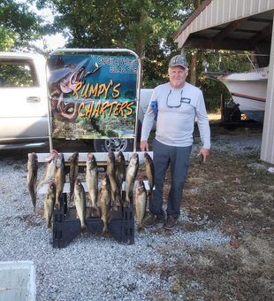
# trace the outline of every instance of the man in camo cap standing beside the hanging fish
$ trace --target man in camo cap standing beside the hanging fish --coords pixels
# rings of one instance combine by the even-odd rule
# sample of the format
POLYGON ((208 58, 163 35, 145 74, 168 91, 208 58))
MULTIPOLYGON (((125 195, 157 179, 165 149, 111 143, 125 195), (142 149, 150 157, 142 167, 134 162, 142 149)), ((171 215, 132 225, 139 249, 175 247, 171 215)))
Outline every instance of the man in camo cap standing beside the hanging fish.
POLYGON ((156 138, 153 141, 155 189, 153 197, 149 198, 151 216, 143 221, 143 225, 150 228, 164 222, 164 228, 171 230, 179 218, 193 144, 195 117, 203 143, 198 156, 203 156, 203 162, 209 155, 210 129, 202 91, 186 82, 186 59, 181 55, 171 58, 168 73, 170 82, 157 86, 151 96, 142 125, 140 147, 141 151, 148 151, 148 135, 156 118, 156 138), (163 187, 170 165, 171 189, 165 220, 163 187))

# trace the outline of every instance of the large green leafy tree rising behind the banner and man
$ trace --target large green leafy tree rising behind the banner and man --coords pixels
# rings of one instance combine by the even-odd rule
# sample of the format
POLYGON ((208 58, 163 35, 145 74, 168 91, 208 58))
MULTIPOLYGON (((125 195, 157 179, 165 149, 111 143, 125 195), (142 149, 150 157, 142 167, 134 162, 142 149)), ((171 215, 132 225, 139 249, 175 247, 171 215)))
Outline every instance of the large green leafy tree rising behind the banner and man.
POLYGON ((141 58, 143 86, 166 81, 168 61, 178 54, 172 35, 187 19, 191 0, 37 0, 51 7, 54 25, 70 48, 127 48, 141 58))

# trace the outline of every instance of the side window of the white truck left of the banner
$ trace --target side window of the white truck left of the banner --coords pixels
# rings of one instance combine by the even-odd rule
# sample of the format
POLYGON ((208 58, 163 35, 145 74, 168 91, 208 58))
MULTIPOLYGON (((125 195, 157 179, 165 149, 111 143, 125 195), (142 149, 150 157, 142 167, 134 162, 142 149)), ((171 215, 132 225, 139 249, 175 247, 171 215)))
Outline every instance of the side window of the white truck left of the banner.
POLYGON ((0 61, 0 89, 38 86, 37 75, 31 62, 0 61))

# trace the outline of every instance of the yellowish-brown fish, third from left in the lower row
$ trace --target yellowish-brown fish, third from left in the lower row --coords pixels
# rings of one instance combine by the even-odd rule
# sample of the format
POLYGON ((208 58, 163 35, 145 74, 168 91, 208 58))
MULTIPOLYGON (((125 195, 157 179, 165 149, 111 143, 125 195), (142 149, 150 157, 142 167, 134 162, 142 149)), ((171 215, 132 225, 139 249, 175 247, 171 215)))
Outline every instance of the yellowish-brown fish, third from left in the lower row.
POLYGON ((103 175, 100 189, 100 207, 101 207, 101 219, 103 220, 103 236, 110 236, 110 229, 108 223, 112 219, 111 211, 111 187, 108 174, 103 175))

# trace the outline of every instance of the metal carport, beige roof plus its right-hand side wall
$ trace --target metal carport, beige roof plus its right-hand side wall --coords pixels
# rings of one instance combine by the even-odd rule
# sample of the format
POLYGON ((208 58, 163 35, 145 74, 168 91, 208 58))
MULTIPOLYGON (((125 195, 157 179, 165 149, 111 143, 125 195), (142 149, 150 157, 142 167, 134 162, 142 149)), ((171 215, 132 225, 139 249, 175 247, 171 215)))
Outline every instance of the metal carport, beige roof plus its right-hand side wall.
POLYGON ((270 53, 261 159, 274 164, 274 0, 205 0, 173 35, 179 48, 270 53))

